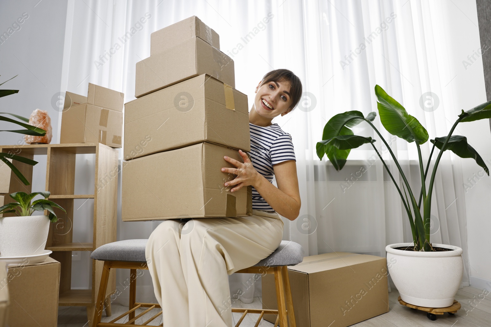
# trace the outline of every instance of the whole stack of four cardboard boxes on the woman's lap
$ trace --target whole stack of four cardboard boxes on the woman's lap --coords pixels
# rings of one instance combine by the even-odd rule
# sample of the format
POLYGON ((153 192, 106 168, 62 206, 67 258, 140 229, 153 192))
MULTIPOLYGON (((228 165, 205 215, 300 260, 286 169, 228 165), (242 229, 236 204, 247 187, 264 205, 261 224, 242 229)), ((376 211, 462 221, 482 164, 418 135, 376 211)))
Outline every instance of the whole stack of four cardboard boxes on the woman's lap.
POLYGON ((151 34, 125 103, 122 220, 252 214, 252 188, 230 192, 221 172, 250 151, 247 96, 218 34, 192 16, 151 34))

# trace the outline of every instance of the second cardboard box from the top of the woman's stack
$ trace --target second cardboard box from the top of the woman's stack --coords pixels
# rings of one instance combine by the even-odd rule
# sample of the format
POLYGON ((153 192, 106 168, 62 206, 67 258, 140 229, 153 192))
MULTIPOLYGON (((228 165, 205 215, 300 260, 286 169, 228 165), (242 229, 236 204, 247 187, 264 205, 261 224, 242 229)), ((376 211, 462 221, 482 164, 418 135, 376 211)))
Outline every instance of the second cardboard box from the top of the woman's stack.
POLYGON ((234 61, 199 37, 136 63, 135 97, 208 74, 235 87, 234 61))

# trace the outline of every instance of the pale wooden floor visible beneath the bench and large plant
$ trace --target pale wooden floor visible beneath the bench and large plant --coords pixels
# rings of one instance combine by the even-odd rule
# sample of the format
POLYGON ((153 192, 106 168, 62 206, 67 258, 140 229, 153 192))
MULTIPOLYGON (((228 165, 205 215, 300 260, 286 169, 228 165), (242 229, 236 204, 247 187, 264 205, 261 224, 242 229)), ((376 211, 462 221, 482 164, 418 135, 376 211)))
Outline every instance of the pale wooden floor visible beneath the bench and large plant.
MULTIPOLYGON (((457 292, 455 299, 462 304, 462 308, 455 315, 444 314, 438 316, 436 321, 431 321, 426 317, 426 313, 418 310, 412 310, 399 304, 397 297, 399 293, 393 290, 389 293, 389 312, 383 315, 365 320, 355 324, 356 327, 491 327, 491 300, 490 295, 483 299, 482 290, 474 287, 464 287, 457 292)), ((254 298, 254 302, 243 304, 240 301, 233 303, 233 307, 261 308, 261 298, 254 298)), ((111 319, 119 316, 128 310, 119 304, 112 305, 112 317, 106 317, 103 314, 102 321, 109 322, 111 319)), ((141 323, 156 314, 160 309, 153 309, 136 323, 141 323)), ((137 309, 136 314, 143 310, 137 309)), ((234 313, 234 326, 241 313, 234 313)), ((247 314, 246 319, 240 325, 241 327, 253 327, 258 314, 247 314)), ((118 321, 124 323, 127 318, 118 321)), ((162 317, 151 322, 149 326, 158 326, 162 323, 162 317)), ((273 324, 262 320, 260 327, 273 327, 273 324)), ((58 309, 58 327, 87 327, 87 315, 85 307, 81 306, 60 306, 58 309)), ((164 326, 165 327, 165 326, 164 326)), ((326 326, 327 327, 327 326, 326 326)))

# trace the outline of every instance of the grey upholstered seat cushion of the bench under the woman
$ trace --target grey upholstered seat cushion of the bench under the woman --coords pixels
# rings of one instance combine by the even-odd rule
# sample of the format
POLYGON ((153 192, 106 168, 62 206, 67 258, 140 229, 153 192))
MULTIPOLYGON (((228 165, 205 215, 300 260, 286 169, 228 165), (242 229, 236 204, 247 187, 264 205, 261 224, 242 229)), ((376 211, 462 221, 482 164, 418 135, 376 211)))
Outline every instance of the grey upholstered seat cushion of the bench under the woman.
MULTIPOLYGON (((90 257, 96 260, 146 262, 147 239, 108 243, 95 249, 90 257)), ((281 241, 279 247, 254 266, 294 266, 303 261, 303 248, 293 241, 281 241)))

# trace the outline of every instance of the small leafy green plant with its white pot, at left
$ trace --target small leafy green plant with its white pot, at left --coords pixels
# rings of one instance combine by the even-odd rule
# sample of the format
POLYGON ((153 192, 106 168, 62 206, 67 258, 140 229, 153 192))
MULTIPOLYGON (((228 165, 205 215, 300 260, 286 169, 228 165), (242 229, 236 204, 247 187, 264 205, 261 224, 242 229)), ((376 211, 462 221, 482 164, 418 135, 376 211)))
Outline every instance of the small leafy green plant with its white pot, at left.
POLYGON ((53 201, 47 200, 50 192, 16 192, 10 197, 17 202, 7 203, 0 207, 0 214, 15 212, 18 216, 0 218, 0 255, 21 256, 41 254, 46 246, 50 222, 56 222, 53 208, 60 207, 53 201), (35 196, 41 195, 44 199, 32 201, 35 196), (49 215, 32 216, 34 211, 48 210, 49 215))

